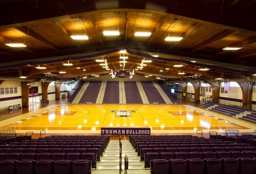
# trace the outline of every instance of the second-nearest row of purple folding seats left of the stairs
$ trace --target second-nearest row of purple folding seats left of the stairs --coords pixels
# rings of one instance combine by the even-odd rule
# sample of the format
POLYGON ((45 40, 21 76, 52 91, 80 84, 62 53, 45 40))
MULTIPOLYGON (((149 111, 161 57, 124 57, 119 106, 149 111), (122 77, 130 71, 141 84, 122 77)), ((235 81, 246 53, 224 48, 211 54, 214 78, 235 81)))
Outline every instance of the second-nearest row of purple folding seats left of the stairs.
POLYGON ((89 160, 92 163, 92 168, 96 168, 96 161, 97 161, 97 154, 94 153, 41 153, 41 154, 35 154, 35 153, 29 153, 29 154, 0 154, 0 161, 4 160, 89 160))

